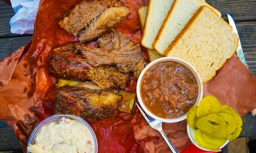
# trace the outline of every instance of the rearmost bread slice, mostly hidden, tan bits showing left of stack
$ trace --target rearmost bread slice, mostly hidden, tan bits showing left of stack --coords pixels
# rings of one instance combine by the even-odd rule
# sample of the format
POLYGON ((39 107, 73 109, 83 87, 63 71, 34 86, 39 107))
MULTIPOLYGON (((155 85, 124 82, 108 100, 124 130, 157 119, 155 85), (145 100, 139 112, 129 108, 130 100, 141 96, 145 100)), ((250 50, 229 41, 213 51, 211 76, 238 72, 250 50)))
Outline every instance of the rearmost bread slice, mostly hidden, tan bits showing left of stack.
MULTIPOLYGON (((140 18, 141 28, 143 31, 144 23, 145 23, 145 19, 146 19, 146 15, 147 15, 147 6, 140 7, 138 10, 138 14, 139 14, 139 18, 140 18)), ((158 52, 156 52, 153 49, 147 49, 147 54, 148 54, 148 58, 149 58, 150 62, 156 60, 157 58, 163 57, 163 55, 158 54, 158 52)))

